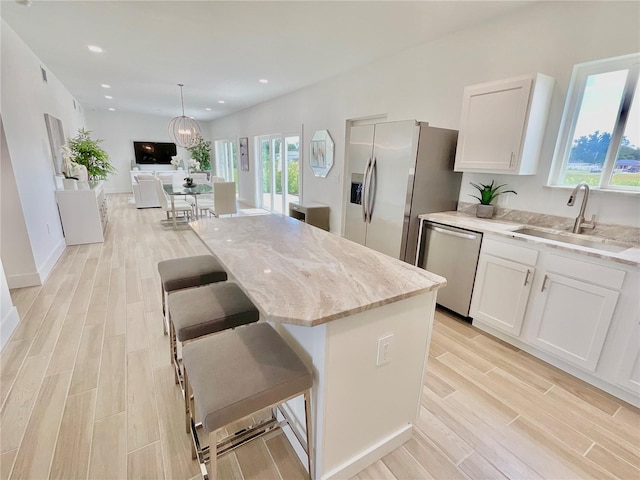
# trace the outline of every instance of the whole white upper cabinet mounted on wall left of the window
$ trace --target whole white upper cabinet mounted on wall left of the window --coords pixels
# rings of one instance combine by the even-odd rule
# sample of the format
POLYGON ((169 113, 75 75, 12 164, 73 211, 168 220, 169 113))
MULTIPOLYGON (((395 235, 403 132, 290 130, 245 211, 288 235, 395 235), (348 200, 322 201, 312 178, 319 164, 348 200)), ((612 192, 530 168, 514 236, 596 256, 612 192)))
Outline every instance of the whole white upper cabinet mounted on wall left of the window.
POLYGON ((553 85, 538 73, 466 87, 455 171, 535 174, 553 85))

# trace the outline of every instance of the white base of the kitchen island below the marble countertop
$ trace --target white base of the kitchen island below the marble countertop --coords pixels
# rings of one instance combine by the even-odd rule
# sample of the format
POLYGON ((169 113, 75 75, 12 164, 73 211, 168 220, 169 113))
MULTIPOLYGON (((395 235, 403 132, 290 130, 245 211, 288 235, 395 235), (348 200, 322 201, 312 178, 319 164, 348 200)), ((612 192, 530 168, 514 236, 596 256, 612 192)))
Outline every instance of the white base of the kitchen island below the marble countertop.
MULTIPOLYGON (((313 364, 316 479, 351 478, 411 439, 420 410, 435 292, 383 305, 313 328, 275 323, 313 364), (388 363, 377 344, 393 335, 388 363)), ((304 438, 304 402, 284 406, 304 438)), ((285 429, 303 465, 306 454, 285 429)))

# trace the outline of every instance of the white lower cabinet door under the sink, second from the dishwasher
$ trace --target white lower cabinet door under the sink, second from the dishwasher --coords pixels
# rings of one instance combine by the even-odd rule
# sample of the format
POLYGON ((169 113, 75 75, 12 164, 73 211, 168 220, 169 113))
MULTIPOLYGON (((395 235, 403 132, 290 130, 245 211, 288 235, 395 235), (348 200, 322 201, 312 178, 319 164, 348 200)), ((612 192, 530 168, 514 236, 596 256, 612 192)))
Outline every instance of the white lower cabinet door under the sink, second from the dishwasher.
POLYGON ((547 273, 531 311, 540 349, 595 371, 618 301, 618 292, 547 273))

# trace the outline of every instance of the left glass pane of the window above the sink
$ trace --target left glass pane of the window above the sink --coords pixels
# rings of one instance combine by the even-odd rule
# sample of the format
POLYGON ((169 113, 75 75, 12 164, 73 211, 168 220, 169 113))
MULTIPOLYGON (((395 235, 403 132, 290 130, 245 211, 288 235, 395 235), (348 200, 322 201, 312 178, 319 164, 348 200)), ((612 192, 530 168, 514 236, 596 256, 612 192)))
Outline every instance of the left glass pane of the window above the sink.
POLYGON ((627 70, 619 70, 587 77, 567 168, 561 181, 563 185, 587 182, 597 187, 600 184, 627 73, 627 70))

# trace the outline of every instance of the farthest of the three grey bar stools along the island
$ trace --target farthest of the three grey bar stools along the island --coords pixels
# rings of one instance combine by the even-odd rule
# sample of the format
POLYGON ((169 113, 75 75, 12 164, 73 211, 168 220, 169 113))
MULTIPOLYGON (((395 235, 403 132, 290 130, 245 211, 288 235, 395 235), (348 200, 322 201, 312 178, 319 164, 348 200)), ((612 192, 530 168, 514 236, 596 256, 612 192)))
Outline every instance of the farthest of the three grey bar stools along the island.
POLYGON ((166 297, 176 290, 200 287, 209 283, 224 282, 227 272, 212 255, 173 258, 158 262, 162 288, 162 327, 168 332, 166 297))

